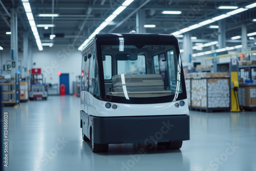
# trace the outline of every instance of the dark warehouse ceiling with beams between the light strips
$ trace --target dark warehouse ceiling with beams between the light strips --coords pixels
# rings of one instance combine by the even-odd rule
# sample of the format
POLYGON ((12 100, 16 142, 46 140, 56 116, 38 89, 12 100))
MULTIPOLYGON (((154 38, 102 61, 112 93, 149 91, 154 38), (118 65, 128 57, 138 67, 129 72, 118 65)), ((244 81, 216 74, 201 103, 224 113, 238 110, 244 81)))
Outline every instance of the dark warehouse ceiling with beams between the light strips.
MULTIPOLYGON (((22 49, 23 33, 25 31, 29 32, 30 42, 36 47, 35 38, 22 1, 1 0, 1 2, 4 7, 0 6, 0 46, 4 48, 10 47, 10 35, 6 35, 6 32, 10 31, 10 17, 6 10, 11 13, 14 7, 18 14, 18 49, 22 49)), ((49 27, 48 29, 44 27, 37 28, 42 43, 52 42, 53 46, 73 44, 78 48, 124 0, 30 0, 29 2, 36 25, 54 25, 54 27, 49 27), (40 17, 38 16, 40 13, 57 13, 59 16, 40 17), (50 39, 51 34, 56 35, 56 37, 50 39)), ((100 33, 123 33, 136 30, 136 11, 142 11, 145 14, 144 24, 156 25, 155 28, 146 28, 145 31, 147 33, 170 34, 231 11, 230 9, 218 9, 221 5, 232 5, 240 8, 251 3, 253 1, 247 0, 135 0, 100 33), (181 11, 182 13, 178 15, 162 14, 162 11, 165 10, 181 11)), ((231 40, 230 38, 241 35, 242 23, 246 23, 248 33, 255 32, 256 22, 252 22, 254 18, 256 18, 256 8, 225 19, 226 38, 229 46, 241 45, 241 39, 231 40)), ((218 22, 210 25, 218 25, 218 22)), ((197 40, 194 40, 194 44, 196 42, 206 43, 218 40, 218 29, 211 29, 209 28, 210 25, 190 31, 191 36, 197 37, 197 40)), ((182 38, 180 42, 182 42, 182 38)))

